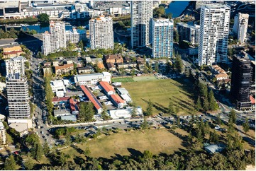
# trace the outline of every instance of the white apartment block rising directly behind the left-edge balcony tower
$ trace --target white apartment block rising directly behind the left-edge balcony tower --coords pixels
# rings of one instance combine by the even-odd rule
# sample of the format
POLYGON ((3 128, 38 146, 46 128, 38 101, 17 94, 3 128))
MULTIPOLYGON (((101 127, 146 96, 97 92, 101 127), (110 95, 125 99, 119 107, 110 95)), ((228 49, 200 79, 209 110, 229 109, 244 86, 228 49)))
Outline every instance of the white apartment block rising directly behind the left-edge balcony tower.
POLYGON ((25 59, 23 57, 13 57, 12 59, 6 60, 6 76, 13 73, 25 74, 24 68, 25 59))

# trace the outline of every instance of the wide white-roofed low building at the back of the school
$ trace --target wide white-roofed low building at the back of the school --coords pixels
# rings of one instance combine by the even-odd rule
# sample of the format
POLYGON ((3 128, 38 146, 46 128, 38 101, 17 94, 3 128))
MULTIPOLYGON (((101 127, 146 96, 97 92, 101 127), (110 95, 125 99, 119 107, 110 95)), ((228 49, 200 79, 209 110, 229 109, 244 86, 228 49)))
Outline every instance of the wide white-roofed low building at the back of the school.
POLYGON ((74 76, 74 83, 76 83, 76 86, 96 86, 100 81, 111 83, 111 73, 102 72, 74 76))

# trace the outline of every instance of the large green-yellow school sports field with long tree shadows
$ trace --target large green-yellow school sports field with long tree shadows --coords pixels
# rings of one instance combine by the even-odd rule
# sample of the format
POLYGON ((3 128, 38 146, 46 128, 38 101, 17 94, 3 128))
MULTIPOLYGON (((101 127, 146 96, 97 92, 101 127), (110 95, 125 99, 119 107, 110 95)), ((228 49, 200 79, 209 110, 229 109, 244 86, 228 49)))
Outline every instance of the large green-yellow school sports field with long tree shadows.
POLYGON ((172 79, 147 80, 123 83, 123 87, 128 90, 136 105, 143 107, 144 110, 150 99, 155 105, 155 113, 167 112, 169 102, 172 101, 179 115, 195 114, 194 100, 190 93, 193 91, 191 83, 184 79, 178 81, 172 79))

